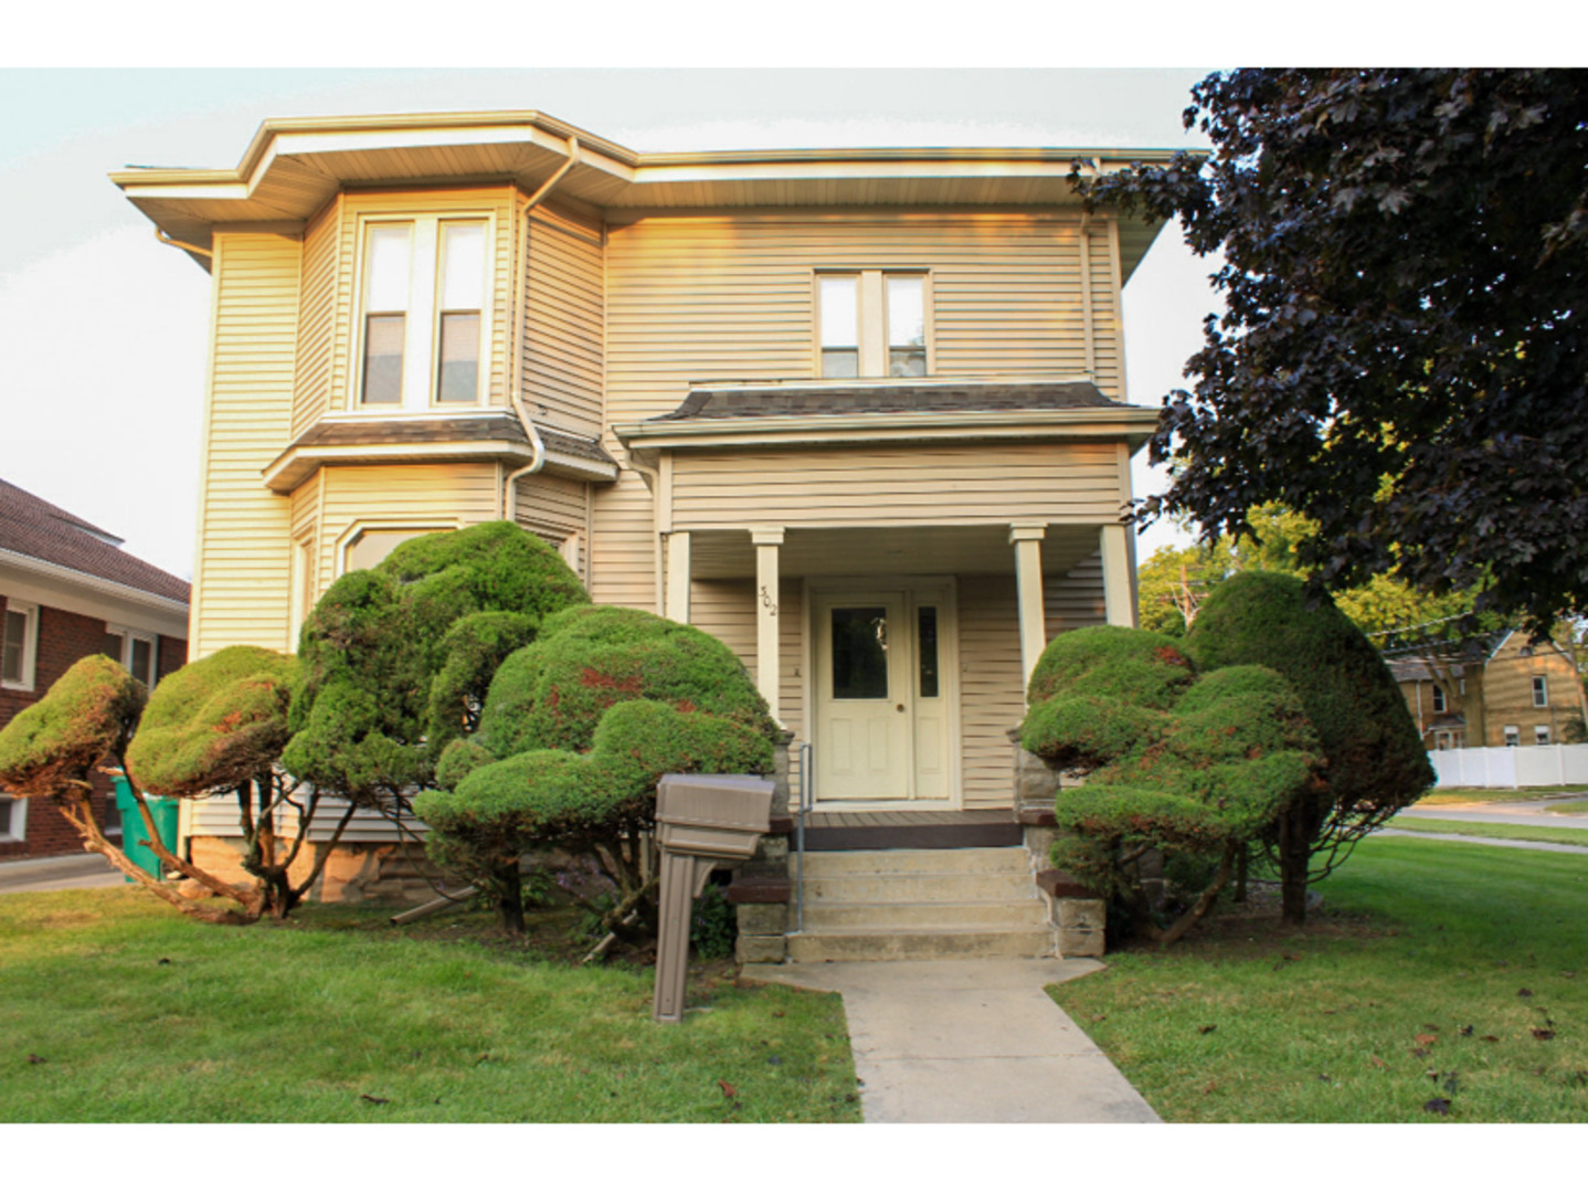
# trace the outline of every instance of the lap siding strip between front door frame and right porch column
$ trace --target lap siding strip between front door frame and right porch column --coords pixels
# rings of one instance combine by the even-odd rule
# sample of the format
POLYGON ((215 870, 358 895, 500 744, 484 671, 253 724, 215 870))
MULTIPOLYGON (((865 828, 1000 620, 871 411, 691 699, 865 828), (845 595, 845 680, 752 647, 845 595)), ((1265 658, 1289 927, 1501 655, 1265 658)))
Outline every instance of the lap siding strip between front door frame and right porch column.
POLYGON ((959 737, 966 809, 1012 807, 1008 731, 1026 715, 1013 577, 959 578, 959 737))

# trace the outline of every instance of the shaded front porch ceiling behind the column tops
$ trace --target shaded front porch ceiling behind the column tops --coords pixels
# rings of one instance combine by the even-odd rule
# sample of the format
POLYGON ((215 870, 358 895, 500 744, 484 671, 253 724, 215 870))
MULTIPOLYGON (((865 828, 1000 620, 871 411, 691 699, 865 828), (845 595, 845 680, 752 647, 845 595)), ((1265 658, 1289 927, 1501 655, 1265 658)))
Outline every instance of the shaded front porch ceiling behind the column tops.
MULTIPOLYGON (((1066 575, 1097 551, 1096 526, 1050 526, 1042 570, 1066 575)), ((756 573, 750 531, 696 531, 689 572, 696 580, 756 573)), ((1013 575, 1007 524, 854 526, 786 532, 778 556, 784 577, 1013 575)))

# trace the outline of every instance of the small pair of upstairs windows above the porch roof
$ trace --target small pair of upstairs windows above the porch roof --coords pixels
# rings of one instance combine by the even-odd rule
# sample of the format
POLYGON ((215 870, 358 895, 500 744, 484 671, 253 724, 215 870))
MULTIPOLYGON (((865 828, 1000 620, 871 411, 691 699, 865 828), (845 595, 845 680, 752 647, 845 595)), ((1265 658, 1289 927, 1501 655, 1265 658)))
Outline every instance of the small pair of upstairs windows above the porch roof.
POLYGON ((926 376, 926 275, 816 275, 823 376, 926 376))

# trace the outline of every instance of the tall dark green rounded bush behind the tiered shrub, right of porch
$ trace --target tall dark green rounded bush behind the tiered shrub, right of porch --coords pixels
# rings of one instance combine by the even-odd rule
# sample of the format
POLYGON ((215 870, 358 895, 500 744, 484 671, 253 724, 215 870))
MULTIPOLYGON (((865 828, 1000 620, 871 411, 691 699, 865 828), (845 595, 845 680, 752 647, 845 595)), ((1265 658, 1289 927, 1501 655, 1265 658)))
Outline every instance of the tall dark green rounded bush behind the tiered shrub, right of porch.
POLYGON ((1215 588, 1185 650, 1204 672, 1261 666, 1286 677, 1318 735, 1321 783, 1266 834, 1285 920, 1301 925, 1307 883, 1434 782, 1405 699, 1350 618, 1274 572, 1240 572, 1215 588))

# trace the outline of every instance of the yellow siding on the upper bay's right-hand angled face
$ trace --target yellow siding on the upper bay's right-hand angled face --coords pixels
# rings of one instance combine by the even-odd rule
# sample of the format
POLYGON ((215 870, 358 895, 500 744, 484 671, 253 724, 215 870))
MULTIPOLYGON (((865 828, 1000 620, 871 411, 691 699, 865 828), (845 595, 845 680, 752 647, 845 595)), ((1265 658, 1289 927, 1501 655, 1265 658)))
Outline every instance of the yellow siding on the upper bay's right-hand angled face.
POLYGON ((535 418, 581 435, 602 429, 600 227, 548 208, 527 219, 521 392, 535 418))

